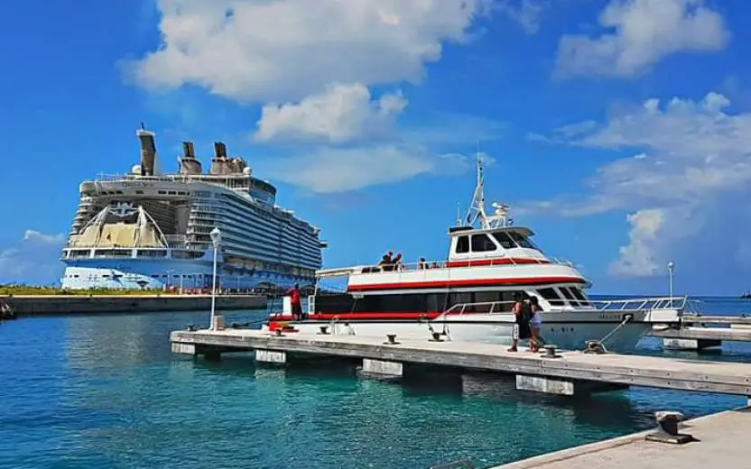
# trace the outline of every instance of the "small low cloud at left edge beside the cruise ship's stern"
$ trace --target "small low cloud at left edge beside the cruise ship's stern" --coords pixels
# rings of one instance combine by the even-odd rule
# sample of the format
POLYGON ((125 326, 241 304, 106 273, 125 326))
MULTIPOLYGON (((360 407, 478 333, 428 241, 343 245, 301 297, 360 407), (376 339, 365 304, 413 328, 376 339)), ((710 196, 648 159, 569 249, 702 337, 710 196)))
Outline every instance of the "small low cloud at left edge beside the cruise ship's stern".
POLYGON ((60 280, 63 234, 26 230, 23 239, 0 250, 0 283, 49 284, 60 280))

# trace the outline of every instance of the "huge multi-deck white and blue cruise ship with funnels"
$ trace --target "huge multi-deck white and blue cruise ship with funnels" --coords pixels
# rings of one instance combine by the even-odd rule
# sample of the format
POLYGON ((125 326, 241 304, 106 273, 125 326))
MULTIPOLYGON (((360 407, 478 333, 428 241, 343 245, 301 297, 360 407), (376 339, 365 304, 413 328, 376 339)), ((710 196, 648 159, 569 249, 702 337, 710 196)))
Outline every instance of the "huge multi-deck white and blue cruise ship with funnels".
POLYGON ((141 161, 129 174, 87 180, 62 250, 66 289, 210 289, 218 228, 222 290, 301 288, 315 282, 320 229, 276 205, 276 188, 214 143, 208 173, 191 142, 179 172, 160 173, 156 135, 136 131, 141 161))

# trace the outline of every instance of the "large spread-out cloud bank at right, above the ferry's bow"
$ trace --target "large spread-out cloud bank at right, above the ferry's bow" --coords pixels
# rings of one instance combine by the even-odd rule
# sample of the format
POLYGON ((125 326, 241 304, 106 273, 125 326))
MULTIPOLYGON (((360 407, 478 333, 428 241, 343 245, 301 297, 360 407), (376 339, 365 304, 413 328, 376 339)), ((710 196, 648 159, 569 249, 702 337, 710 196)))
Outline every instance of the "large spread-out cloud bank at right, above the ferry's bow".
POLYGON ((585 181, 591 191, 586 198, 537 201, 524 210, 563 216, 635 212, 630 243, 611 266, 620 275, 664 273, 668 261, 701 273, 709 255, 715 258, 709 262, 727 262, 727 270, 751 266, 744 254, 751 252, 746 230, 733 227, 748 225, 751 113, 730 113, 729 104, 715 92, 700 101, 649 99, 605 124, 559 132, 561 142, 634 156, 600 167, 585 181))

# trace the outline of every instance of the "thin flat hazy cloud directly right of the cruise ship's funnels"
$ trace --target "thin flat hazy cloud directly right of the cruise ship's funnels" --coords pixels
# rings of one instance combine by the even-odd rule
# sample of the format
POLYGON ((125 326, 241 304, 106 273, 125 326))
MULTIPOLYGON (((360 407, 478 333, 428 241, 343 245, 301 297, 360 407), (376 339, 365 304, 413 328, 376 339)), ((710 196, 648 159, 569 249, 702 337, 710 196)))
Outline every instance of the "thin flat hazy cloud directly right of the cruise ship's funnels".
POLYGON ((422 174, 453 174, 468 170, 468 156, 431 154, 419 146, 397 144, 357 148, 319 148, 279 159, 268 172, 274 179, 317 194, 346 192, 410 179, 422 174))

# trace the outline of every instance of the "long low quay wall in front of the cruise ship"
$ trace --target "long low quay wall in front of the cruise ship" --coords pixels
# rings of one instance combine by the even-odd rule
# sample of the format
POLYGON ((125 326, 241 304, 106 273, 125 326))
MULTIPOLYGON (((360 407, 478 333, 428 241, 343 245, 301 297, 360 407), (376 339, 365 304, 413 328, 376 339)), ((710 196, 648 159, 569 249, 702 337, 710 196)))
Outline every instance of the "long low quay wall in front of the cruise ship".
MULTIPOLYGON (((19 317, 71 313, 141 313, 208 311, 211 295, 28 295, 0 296, 19 317)), ((217 308, 266 308, 263 295, 218 295, 217 308)))

